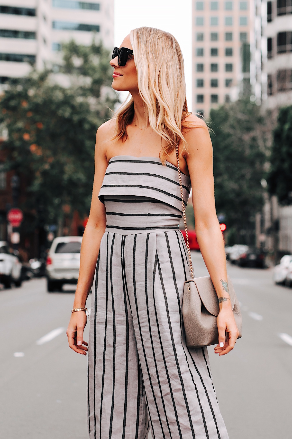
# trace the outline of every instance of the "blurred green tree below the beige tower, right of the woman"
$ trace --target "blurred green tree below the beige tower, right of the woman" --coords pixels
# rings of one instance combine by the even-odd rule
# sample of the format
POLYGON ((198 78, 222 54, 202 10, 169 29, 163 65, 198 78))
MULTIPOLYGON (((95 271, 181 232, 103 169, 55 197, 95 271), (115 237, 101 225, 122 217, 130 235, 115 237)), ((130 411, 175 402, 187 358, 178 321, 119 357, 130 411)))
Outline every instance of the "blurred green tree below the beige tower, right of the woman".
POLYGON ((255 213, 263 205, 268 130, 260 108, 243 98, 210 113, 217 214, 225 216, 229 244, 254 244, 255 213))

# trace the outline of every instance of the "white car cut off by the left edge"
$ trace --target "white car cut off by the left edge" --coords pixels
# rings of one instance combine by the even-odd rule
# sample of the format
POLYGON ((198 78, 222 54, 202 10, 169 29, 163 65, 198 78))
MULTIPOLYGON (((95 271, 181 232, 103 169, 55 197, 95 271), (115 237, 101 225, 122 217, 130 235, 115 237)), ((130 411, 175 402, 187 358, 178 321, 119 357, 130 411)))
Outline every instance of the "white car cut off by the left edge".
POLYGON ((21 286, 21 267, 18 257, 9 251, 8 243, 0 241, 0 282, 5 288, 11 288, 11 283, 21 286))

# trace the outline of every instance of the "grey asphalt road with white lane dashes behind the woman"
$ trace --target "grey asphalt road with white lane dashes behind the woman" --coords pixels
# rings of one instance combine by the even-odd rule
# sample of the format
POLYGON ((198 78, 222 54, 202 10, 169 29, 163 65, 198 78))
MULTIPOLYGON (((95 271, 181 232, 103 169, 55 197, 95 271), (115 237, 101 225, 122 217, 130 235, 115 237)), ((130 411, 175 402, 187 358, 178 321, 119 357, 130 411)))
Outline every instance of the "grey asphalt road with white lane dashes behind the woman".
MULTIPOLYGON (((206 274, 200 253, 193 262, 196 276, 206 274)), ((291 439, 292 289, 275 286, 271 270, 228 271, 242 304, 243 338, 227 356, 209 353, 229 437, 291 439)), ((87 358, 67 347, 68 288, 47 293, 45 280, 34 279, 0 291, 0 439, 88 438, 87 358)))

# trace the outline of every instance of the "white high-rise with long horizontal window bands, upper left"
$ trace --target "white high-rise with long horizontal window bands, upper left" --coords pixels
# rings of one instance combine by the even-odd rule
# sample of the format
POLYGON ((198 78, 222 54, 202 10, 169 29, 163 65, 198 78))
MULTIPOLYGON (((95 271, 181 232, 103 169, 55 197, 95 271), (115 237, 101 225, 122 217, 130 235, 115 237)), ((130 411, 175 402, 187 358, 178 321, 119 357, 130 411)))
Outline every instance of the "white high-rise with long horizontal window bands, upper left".
POLYGON ((113 47, 113 0, 0 0, 0 81, 57 60, 61 43, 113 47))

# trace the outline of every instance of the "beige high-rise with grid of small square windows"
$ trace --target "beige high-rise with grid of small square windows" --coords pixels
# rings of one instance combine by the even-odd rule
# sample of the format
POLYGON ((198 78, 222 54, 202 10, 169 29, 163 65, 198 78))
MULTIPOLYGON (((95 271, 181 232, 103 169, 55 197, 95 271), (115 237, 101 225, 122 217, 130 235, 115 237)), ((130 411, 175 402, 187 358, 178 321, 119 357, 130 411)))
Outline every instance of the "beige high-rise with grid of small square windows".
POLYGON ((255 32, 253 0, 193 0, 192 19, 193 112, 208 118, 211 108, 235 101, 240 93, 259 100, 256 40, 260 44, 261 32, 255 32))

